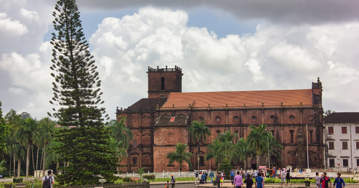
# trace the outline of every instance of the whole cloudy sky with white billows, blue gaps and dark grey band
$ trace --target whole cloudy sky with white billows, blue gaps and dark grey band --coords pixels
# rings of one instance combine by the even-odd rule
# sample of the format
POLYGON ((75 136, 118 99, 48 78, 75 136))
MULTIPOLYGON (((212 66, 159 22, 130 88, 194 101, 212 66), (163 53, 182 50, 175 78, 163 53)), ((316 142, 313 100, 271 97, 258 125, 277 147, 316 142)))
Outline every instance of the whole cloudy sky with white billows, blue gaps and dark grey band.
MULTIPOLYGON (((54 0, 0 0, 0 100, 52 111, 54 0)), ((115 109, 147 97, 146 69, 183 70, 183 92, 308 89, 325 110, 359 111, 359 1, 79 0, 80 19, 115 109)), ((259 105, 259 104, 258 104, 259 105)))

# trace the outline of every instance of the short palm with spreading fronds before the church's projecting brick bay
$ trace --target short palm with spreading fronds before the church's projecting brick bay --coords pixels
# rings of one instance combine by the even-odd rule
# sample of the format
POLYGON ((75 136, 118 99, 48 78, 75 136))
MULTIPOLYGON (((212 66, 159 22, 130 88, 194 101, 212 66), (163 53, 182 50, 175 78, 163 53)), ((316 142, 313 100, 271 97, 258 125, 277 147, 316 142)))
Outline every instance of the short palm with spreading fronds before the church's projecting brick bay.
POLYGON ((178 162, 178 165, 180 165, 180 171, 182 171, 183 161, 187 162, 189 168, 192 168, 190 157, 193 156, 193 153, 186 151, 187 146, 187 144, 181 144, 180 142, 178 142, 176 145, 176 151, 169 152, 166 155, 166 158, 169 159, 169 164, 172 164, 173 162, 178 162))

